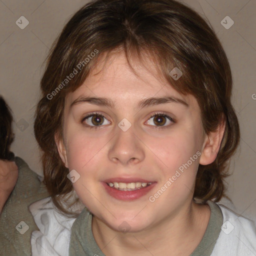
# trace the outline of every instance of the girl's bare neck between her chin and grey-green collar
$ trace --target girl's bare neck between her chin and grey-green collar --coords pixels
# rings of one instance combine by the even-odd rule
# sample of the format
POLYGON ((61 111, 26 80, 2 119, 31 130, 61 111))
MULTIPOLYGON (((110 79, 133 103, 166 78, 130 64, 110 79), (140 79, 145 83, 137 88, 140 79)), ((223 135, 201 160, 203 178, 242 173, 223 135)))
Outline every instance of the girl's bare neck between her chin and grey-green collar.
POLYGON ((139 232, 122 233, 92 217, 92 233, 106 256, 130 255, 190 255, 199 244, 210 216, 208 205, 195 202, 183 204, 180 209, 150 228, 139 232))

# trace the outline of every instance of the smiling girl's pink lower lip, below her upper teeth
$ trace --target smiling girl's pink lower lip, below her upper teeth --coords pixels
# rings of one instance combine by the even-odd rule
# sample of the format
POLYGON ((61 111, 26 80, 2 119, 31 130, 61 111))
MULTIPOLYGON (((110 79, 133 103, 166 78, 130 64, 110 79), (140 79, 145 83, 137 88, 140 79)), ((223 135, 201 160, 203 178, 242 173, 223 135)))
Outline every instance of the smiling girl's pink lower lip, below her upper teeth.
POLYGON ((153 186, 156 184, 156 182, 153 182, 152 184, 139 188, 136 190, 130 190, 130 191, 123 191, 123 190, 118 190, 115 189, 111 186, 109 186, 106 182, 102 182, 103 186, 105 187, 107 193, 111 195, 112 197, 119 199, 119 200, 125 200, 125 201, 130 201, 134 199, 138 199, 139 197, 147 194, 149 190, 153 188, 153 186))

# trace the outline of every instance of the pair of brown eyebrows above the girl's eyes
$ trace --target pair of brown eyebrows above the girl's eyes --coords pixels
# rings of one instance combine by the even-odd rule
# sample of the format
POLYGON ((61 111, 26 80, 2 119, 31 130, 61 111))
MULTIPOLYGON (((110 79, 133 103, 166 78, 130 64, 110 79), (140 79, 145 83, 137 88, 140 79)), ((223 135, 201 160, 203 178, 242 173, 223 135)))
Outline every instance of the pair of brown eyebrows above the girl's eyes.
MULTIPOLYGON (((110 98, 102 98, 102 97, 79 97, 70 104, 70 107, 83 102, 88 102, 90 104, 100 105, 100 106, 108 106, 110 108, 115 107, 115 103, 110 98)), ((143 108, 146 106, 165 104, 165 103, 179 103, 188 107, 188 104, 180 98, 176 98, 173 96, 165 96, 165 97, 144 98, 138 102, 137 108, 143 108)))

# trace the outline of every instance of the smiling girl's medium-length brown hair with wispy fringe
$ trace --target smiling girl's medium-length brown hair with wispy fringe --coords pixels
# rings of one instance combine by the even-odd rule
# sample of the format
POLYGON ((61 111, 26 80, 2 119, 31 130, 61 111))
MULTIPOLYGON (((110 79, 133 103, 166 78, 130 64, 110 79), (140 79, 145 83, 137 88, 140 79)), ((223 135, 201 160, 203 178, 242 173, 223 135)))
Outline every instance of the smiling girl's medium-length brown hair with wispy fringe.
POLYGON ((170 86, 195 96, 206 134, 217 128, 223 115, 226 124, 219 152, 211 164, 199 164, 193 195, 201 203, 218 201, 240 133, 230 102, 229 63, 214 31, 195 11, 174 0, 94 0, 65 25, 41 78, 34 132, 42 149, 44 183, 54 204, 68 214, 60 202, 73 190, 54 141, 55 133, 62 136, 65 95, 82 84, 103 54, 118 50, 125 52, 128 63, 129 55, 143 59, 142 53, 148 52, 170 86), (178 80, 169 74, 174 67, 183 73, 178 80), (67 79, 74 70, 77 74, 67 79))

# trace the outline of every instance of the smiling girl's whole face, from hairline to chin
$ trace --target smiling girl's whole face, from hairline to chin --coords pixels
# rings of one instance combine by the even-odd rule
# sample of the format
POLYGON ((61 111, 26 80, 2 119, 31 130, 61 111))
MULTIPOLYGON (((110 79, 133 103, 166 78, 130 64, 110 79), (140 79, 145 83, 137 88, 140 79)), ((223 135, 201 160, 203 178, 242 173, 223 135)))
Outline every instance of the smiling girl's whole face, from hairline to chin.
POLYGON ((138 75, 124 54, 114 55, 66 96, 57 146, 94 216, 114 230, 126 221, 139 231, 191 203, 206 139, 192 95, 132 66, 138 75))

